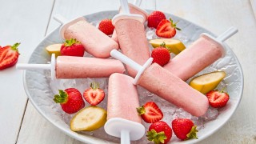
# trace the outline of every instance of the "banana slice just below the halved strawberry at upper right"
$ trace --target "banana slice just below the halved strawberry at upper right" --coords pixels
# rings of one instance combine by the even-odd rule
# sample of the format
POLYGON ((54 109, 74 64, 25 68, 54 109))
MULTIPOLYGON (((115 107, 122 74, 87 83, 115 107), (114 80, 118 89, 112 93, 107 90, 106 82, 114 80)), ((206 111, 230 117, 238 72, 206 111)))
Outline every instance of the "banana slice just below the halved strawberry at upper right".
POLYGON ((168 50, 170 53, 179 54, 186 48, 184 44, 178 40, 173 38, 160 38, 160 39, 152 39, 150 40, 150 44, 155 48, 162 44, 162 42, 166 43, 168 50))

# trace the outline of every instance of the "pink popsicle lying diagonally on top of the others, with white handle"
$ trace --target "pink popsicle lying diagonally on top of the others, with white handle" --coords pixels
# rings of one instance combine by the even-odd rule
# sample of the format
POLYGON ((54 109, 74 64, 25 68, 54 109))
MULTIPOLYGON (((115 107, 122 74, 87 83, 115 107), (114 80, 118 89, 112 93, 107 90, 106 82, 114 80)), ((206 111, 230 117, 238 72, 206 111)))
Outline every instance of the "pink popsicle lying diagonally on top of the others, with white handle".
POLYGON ((170 71, 165 70, 157 63, 150 66, 153 58, 149 58, 143 66, 140 66, 118 50, 112 50, 110 54, 113 58, 119 59, 138 71, 134 78, 134 84, 144 87, 194 116, 199 117, 206 113, 209 107, 206 96, 198 90, 194 90, 182 79, 171 74, 170 71))

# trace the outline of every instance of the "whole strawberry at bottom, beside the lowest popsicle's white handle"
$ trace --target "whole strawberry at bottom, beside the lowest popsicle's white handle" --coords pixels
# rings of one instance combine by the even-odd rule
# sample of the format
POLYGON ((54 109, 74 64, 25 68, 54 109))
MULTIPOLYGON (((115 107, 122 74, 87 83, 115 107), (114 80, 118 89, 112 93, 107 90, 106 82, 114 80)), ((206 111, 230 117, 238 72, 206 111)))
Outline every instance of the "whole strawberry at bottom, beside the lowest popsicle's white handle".
POLYGON ((172 136, 172 130, 166 122, 158 121, 150 125, 146 137, 149 141, 158 143, 167 143, 172 136))

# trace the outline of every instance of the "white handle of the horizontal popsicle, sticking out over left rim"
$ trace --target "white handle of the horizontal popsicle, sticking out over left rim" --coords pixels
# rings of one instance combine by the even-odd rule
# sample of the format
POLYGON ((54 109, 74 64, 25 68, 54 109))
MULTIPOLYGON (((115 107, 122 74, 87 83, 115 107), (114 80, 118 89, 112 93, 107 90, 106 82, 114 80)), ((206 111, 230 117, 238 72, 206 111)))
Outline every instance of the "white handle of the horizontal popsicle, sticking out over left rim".
POLYGON ((17 70, 50 70, 51 79, 56 78, 55 75, 55 54, 51 54, 50 64, 27 64, 27 63, 18 63, 16 65, 17 70))

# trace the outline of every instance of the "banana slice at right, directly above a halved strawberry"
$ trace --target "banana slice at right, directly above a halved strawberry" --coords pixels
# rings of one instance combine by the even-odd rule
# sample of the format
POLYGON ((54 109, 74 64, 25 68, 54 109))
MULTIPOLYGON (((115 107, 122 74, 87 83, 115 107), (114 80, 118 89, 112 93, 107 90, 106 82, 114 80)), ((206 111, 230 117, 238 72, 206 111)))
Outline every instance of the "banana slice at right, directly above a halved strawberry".
POLYGON ((195 90, 200 91, 202 94, 208 93, 210 90, 214 90, 222 79, 226 77, 224 71, 215 71, 208 74, 202 74, 190 81, 190 86, 195 90))

